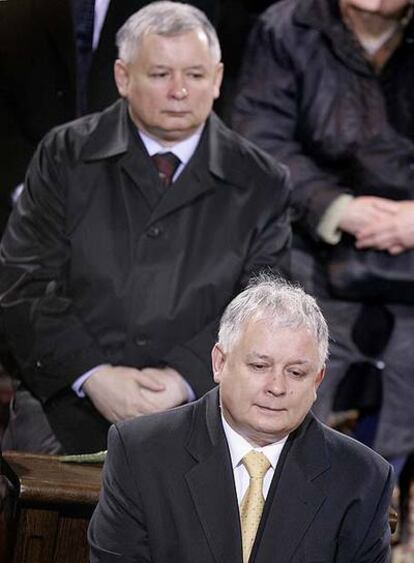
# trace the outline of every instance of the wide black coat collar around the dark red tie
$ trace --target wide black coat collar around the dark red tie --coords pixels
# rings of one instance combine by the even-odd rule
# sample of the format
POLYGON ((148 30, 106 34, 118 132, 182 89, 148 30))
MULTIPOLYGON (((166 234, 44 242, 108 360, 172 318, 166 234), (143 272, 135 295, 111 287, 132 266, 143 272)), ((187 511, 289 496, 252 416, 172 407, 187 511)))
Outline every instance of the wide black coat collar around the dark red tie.
MULTIPOLYGON (((88 119, 88 118, 87 118, 88 119)), ((89 118, 90 119, 90 118, 89 118)), ((118 100, 101 114, 81 151, 86 162, 106 160, 119 156, 119 165, 126 171, 147 200, 151 199, 152 182, 149 156, 143 144, 134 138, 130 126, 128 105, 118 100)), ((222 189, 230 183, 246 184, 242 143, 212 114, 207 120, 200 143, 186 168, 153 209, 151 222, 188 205, 201 195, 222 189)))

